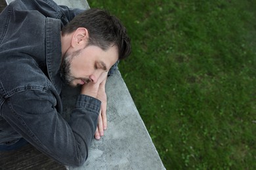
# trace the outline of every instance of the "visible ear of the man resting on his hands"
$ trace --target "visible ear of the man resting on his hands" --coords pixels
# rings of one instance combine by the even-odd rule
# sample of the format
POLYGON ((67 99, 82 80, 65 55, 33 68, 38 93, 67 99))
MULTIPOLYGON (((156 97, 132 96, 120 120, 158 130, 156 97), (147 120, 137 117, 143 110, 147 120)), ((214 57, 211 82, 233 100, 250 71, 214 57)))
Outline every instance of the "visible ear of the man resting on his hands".
POLYGON ((88 30, 85 27, 79 27, 74 31, 71 45, 74 48, 85 48, 88 39, 88 30))

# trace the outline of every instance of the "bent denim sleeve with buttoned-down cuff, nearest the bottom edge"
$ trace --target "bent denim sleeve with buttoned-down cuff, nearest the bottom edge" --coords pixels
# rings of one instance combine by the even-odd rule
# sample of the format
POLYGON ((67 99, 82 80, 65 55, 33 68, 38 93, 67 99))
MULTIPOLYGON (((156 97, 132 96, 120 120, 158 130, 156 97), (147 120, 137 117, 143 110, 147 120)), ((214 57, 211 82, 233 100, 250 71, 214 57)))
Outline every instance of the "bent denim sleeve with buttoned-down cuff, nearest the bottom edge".
POLYGON ((70 123, 56 110, 51 92, 25 90, 9 97, 2 106, 3 118, 29 143, 54 160, 83 165, 95 134, 100 101, 79 95, 70 123))

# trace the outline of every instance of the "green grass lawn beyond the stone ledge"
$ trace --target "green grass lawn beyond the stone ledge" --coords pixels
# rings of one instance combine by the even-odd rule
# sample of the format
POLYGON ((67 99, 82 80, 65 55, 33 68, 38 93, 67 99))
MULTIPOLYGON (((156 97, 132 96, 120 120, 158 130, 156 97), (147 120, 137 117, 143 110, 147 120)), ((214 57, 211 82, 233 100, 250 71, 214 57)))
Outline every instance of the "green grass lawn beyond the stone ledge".
POLYGON ((256 2, 89 1, 132 39, 119 70, 166 169, 256 169, 256 2))

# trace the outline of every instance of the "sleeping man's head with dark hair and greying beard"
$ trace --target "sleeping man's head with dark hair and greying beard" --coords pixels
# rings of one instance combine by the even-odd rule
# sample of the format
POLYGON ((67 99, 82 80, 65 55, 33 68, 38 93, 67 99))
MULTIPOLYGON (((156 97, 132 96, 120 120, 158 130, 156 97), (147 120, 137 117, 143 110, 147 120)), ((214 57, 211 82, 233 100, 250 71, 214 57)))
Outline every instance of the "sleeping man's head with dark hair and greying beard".
POLYGON ((104 10, 90 9, 62 28, 62 53, 64 79, 77 86, 96 83, 118 59, 129 56, 131 44, 116 17, 104 10))

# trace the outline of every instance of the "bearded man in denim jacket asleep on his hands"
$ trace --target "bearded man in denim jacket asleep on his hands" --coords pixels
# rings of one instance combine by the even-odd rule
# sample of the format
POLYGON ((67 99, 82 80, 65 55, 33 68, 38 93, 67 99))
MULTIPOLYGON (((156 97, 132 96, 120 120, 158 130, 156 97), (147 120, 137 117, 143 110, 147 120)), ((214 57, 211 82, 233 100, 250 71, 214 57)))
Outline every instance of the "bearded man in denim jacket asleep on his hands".
POLYGON ((106 129, 108 73, 131 53, 125 27, 104 10, 50 0, 16 0, 0 22, 0 150, 28 141, 64 165, 82 165, 106 129), (63 82, 81 86, 69 122, 63 82))

